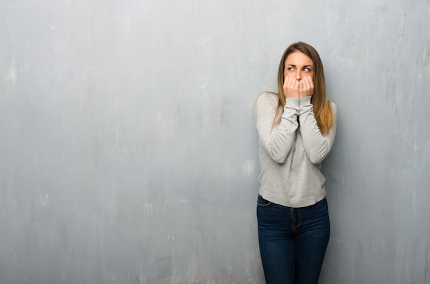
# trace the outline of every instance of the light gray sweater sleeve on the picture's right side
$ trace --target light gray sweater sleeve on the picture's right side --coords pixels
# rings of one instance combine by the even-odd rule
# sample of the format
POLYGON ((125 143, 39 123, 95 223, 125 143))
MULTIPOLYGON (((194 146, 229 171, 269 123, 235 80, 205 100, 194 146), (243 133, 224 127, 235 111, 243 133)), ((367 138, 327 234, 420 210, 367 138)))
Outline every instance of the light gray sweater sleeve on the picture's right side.
POLYGON ((302 134, 304 150, 313 164, 321 163, 330 152, 336 137, 337 106, 330 102, 333 113, 333 124, 326 134, 321 134, 313 112, 310 97, 300 98, 300 133, 302 134))

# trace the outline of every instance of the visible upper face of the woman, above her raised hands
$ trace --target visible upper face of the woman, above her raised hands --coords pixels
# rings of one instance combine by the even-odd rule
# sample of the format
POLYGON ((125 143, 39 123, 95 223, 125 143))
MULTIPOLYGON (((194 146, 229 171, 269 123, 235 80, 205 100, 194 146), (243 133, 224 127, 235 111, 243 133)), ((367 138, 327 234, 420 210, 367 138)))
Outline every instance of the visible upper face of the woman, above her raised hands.
POLYGON ((313 75, 313 61, 306 54, 300 51, 294 51, 286 57, 284 79, 286 77, 293 77, 300 81, 305 77, 313 79, 313 75))

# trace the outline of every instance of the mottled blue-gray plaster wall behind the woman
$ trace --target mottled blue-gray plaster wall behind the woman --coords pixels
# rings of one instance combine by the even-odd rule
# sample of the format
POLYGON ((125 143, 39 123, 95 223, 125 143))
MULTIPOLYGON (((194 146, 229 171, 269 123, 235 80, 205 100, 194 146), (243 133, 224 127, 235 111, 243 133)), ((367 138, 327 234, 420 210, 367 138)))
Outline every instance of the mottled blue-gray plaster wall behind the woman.
POLYGON ((430 2, 0 0, 0 283, 262 283, 253 100, 339 107, 320 283, 430 283, 430 2))

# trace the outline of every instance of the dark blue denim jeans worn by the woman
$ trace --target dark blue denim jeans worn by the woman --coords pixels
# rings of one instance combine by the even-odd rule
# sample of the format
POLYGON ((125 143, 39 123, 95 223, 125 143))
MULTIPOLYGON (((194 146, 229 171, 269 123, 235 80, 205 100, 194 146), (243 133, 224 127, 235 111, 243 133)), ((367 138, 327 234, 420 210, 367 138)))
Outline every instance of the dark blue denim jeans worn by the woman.
POLYGON ((258 241, 267 284, 316 284, 330 237, 327 200, 291 208, 258 196, 258 241))

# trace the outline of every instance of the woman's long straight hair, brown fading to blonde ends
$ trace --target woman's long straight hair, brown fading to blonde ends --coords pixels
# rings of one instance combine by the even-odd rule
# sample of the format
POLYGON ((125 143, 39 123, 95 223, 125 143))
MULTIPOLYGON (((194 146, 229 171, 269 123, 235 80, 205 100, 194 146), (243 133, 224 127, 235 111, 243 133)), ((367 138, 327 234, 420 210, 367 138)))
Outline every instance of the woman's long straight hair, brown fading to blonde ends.
POLYGON ((333 123, 333 113, 332 108, 330 106, 330 102, 327 98, 326 91, 326 80, 324 78, 324 69, 321 62, 321 58, 319 58, 318 52, 311 45, 307 43, 297 42, 293 43, 289 47, 286 48, 284 54, 282 55, 279 69, 278 69, 278 109, 276 110, 275 117, 273 118, 273 126, 279 124, 281 121, 281 114, 284 112, 285 106, 285 95, 284 95, 284 69, 285 69, 285 60, 293 52, 302 52, 306 56, 308 56, 314 64, 314 91, 310 102, 313 104, 313 111, 315 113, 315 119, 317 119, 317 125, 322 134, 326 134, 332 126, 333 123), (278 117, 279 115, 279 117, 278 117), (276 119, 278 117, 278 119, 276 119))

